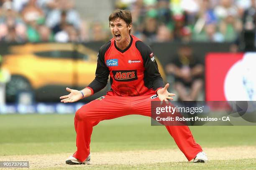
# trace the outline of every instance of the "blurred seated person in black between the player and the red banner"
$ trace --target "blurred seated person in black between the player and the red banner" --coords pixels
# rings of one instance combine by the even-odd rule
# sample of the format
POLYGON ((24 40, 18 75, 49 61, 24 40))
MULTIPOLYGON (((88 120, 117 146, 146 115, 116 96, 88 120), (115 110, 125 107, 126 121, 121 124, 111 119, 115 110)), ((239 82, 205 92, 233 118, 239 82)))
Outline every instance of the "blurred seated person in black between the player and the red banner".
POLYGON ((166 72, 175 78, 174 88, 179 100, 197 100, 203 86, 203 66, 193 56, 190 47, 180 47, 178 57, 166 65, 166 72))

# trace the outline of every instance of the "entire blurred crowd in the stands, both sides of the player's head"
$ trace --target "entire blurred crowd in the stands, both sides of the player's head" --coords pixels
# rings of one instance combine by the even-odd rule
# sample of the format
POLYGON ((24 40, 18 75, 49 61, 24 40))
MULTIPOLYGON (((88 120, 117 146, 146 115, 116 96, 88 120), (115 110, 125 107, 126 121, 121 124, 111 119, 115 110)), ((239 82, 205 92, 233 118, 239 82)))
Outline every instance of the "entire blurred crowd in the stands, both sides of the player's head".
MULTIPOLYGON (((131 10, 132 34, 146 42, 236 42, 255 30, 256 0, 115 0, 131 10)), ((254 34, 255 35, 255 34, 254 34)), ((74 0, 0 0, 0 40, 108 40, 108 20, 86 23, 74 0)))

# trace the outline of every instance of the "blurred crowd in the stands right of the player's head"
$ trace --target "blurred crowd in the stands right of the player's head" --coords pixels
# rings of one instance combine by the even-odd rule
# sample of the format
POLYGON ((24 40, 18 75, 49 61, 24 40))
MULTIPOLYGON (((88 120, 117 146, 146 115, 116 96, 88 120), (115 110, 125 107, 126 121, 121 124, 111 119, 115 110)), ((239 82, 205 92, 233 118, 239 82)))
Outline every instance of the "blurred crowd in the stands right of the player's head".
POLYGON ((143 40, 234 42, 255 30, 256 0, 118 0, 143 40))

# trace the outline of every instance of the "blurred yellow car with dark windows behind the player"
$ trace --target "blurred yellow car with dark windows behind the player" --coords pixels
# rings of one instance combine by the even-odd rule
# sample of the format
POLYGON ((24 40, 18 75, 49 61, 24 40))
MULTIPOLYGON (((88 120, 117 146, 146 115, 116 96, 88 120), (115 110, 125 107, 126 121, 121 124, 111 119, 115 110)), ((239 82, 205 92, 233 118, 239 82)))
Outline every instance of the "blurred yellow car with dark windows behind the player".
MULTIPOLYGON (((59 96, 67 94, 65 87, 82 89, 95 78, 97 52, 82 44, 15 45, 9 52, 10 55, 4 56, 3 64, 11 74, 6 87, 8 102, 14 102, 22 91, 33 92, 36 101, 59 101, 59 96)), ((158 64, 165 80, 163 67, 158 64)), ((106 88, 93 98, 105 92, 106 88)))

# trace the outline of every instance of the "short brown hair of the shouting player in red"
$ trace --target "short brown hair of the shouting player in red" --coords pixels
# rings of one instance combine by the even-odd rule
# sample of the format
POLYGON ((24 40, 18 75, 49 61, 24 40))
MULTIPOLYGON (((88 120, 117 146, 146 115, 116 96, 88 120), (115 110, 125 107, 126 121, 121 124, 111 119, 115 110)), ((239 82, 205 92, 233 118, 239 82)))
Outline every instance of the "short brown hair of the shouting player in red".
MULTIPOLYGON (((120 9, 115 10, 113 13, 109 15, 109 18, 108 18, 109 25, 110 25, 110 21, 115 21, 118 18, 124 20, 127 26, 132 24, 131 12, 129 10, 120 10, 120 9)), ((129 33, 131 33, 131 30, 129 30, 129 33)))

